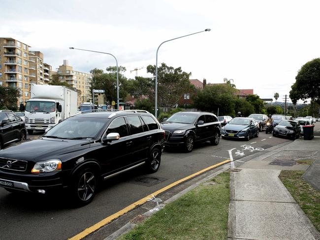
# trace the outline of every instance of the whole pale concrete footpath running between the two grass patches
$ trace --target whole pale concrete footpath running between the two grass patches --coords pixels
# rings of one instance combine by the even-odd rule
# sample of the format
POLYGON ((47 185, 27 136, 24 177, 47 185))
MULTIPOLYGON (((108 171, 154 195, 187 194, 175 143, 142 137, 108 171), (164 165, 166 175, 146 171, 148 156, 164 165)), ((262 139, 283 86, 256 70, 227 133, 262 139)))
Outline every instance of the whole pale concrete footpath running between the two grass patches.
POLYGON ((320 240, 319 232, 278 178, 281 170, 304 170, 305 180, 319 189, 319 160, 320 138, 300 138, 233 169, 228 240, 320 240), (299 164, 304 160, 314 163, 299 164))

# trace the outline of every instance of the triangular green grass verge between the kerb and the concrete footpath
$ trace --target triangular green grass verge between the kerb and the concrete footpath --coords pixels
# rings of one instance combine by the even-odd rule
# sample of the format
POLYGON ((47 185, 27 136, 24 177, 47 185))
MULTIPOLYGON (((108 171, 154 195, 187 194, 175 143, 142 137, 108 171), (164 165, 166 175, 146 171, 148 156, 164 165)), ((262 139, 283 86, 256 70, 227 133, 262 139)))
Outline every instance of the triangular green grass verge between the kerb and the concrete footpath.
POLYGON ((120 240, 227 239, 230 173, 224 172, 166 205, 120 240))

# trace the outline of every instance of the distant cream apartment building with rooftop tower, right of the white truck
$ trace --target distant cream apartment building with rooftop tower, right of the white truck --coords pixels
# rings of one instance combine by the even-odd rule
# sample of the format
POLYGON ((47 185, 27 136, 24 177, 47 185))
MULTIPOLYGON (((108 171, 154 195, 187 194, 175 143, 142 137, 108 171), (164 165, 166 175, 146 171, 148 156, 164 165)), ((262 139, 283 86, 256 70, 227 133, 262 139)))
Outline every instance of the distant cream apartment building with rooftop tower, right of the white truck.
POLYGON ((72 88, 81 91, 81 93, 78 93, 78 105, 92 100, 90 87, 93 76, 91 73, 73 70, 73 67, 68 65, 68 60, 64 60, 64 64, 59 66, 57 73, 60 75, 60 81, 66 82, 72 88))

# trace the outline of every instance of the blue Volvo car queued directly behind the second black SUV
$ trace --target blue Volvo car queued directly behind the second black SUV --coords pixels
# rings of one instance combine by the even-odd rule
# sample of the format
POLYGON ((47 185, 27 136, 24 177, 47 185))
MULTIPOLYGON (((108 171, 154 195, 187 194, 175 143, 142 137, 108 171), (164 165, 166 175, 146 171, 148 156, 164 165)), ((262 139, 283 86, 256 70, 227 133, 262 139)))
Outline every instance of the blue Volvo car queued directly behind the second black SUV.
POLYGON ((222 138, 240 138, 249 141, 259 136, 259 124, 250 118, 234 118, 222 128, 222 138))

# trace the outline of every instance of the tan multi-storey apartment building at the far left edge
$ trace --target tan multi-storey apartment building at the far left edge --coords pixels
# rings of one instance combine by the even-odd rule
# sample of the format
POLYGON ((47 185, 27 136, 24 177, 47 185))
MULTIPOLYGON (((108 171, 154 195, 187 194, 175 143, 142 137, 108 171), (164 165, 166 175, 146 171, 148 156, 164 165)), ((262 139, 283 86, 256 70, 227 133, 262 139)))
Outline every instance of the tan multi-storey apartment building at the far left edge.
POLYGON ((0 86, 20 90, 18 105, 30 98, 29 48, 11 37, 0 37, 0 86))

